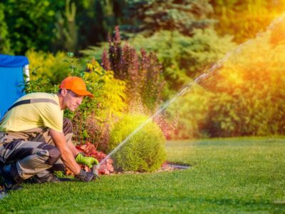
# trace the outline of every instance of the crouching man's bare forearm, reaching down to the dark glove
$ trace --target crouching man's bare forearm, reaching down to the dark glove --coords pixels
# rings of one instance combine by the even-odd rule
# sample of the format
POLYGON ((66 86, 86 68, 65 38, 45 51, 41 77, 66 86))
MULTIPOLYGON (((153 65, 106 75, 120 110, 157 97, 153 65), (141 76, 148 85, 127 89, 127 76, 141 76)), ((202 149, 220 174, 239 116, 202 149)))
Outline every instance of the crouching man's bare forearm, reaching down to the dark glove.
POLYGON ((78 175, 81 172, 81 167, 76 163, 74 159, 73 152, 68 147, 66 143, 66 138, 62 132, 55 131, 50 128, 51 138, 53 143, 56 145, 58 150, 61 152, 61 158, 63 163, 69 168, 73 173, 78 175))

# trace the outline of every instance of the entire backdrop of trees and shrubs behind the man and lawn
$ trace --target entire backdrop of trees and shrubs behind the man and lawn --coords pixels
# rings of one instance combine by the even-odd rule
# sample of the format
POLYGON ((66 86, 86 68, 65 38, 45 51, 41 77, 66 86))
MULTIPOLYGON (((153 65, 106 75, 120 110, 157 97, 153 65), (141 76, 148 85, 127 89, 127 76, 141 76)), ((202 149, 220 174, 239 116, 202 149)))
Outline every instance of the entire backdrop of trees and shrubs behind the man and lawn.
POLYGON ((157 124, 167 138, 284 134, 285 21, 266 29, 284 10, 281 0, 2 0, 0 53, 28 56, 27 92, 86 78, 96 98, 67 116, 78 139, 108 151, 121 116, 152 115, 252 39, 157 124), (67 51, 80 59, 66 60, 67 51))

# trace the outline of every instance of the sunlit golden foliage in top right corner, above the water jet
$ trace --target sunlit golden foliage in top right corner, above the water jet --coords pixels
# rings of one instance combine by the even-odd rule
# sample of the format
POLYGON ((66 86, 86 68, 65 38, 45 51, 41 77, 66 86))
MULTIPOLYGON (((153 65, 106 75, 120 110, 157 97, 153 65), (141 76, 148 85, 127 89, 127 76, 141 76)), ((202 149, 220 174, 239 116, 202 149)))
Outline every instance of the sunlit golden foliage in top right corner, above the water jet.
POLYGON ((217 31, 231 34, 242 42, 265 29, 272 20, 284 13, 284 1, 271 0, 212 0, 217 31))

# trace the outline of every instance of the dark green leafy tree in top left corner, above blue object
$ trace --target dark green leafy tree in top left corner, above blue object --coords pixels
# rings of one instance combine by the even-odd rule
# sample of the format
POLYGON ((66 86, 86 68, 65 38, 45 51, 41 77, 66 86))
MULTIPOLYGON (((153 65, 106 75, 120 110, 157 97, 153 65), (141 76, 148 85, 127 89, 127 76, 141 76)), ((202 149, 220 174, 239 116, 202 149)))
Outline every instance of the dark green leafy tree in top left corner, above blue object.
POLYGON ((48 51, 54 35, 56 11, 64 8, 64 0, 2 0, 11 47, 15 54, 28 49, 48 51))

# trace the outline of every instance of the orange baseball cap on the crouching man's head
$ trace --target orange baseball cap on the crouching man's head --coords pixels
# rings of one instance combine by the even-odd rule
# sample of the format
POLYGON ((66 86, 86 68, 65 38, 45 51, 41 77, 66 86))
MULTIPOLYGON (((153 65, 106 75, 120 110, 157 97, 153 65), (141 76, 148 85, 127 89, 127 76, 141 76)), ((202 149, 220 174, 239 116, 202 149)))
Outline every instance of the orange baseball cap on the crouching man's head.
POLYGON ((63 79, 59 88, 66 88, 79 96, 89 96, 90 98, 94 97, 92 93, 87 91, 86 84, 83 79, 78 76, 68 76, 63 79))

